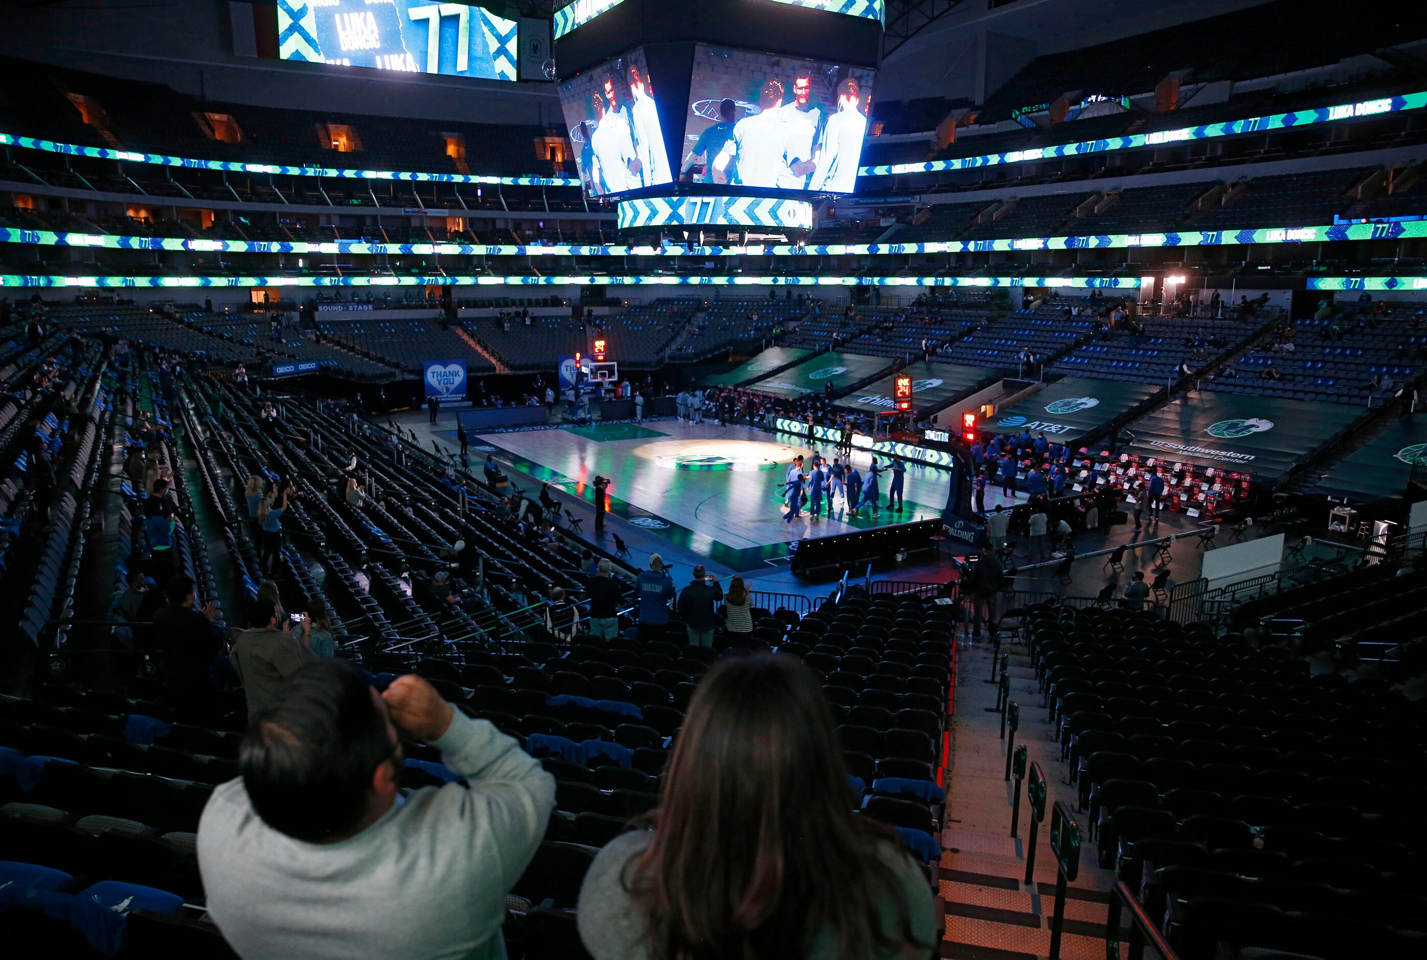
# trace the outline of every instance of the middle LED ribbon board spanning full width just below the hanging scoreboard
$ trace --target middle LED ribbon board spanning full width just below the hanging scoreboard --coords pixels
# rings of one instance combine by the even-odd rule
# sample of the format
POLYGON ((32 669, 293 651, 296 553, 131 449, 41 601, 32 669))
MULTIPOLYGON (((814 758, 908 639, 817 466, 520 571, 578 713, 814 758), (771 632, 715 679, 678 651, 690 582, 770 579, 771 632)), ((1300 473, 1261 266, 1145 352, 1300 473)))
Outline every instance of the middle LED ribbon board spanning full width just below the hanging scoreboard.
MULTIPOLYGON (((742 198, 748 200, 748 198, 742 198)), ((628 203, 628 201, 626 201, 628 203)), ((808 207, 798 200, 778 201, 808 207)), ((621 203, 621 215, 625 204, 621 203)), ((729 208, 725 205, 725 210, 729 208)), ((751 224, 756 225, 756 224, 751 224)), ((786 225, 786 224, 781 224, 786 225)), ((361 240, 268 241, 193 240, 128 234, 80 234, 0 227, 0 242, 103 250, 168 250, 221 254, 387 254, 442 257, 880 257, 893 254, 969 254, 1022 250, 1123 250, 1130 247, 1243 247, 1249 244, 1310 244, 1427 237, 1427 220, 1330 224, 1321 227, 1253 227, 1244 230, 1184 230, 1164 234, 1087 234, 1080 237, 1023 237, 1016 240, 946 240, 920 244, 742 244, 685 247, 648 244, 371 244, 361 240)))

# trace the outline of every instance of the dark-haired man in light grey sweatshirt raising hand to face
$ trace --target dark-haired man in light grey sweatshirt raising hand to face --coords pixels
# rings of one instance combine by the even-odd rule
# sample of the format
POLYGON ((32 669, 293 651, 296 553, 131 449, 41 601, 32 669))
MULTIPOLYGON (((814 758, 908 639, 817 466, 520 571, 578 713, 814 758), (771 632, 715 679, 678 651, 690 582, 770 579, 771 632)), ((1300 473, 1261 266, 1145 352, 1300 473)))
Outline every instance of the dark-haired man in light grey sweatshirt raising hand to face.
POLYGON ((505 894, 555 806, 554 777, 517 740, 417 676, 378 696, 321 660, 253 718, 238 769, 204 809, 198 867, 240 956, 505 956, 505 894), (401 739, 437 747, 464 782, 401 796, 401 739))

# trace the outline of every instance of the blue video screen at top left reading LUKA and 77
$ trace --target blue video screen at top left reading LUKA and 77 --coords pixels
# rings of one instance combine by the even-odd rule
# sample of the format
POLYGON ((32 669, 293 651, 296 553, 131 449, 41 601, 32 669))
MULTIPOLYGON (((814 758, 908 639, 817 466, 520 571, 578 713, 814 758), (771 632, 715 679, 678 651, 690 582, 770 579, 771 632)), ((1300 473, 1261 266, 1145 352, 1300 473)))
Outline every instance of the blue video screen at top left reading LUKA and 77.
POLYGON ((519 21, 464 3, 278 0, 278 58, 515 80, 519 21))

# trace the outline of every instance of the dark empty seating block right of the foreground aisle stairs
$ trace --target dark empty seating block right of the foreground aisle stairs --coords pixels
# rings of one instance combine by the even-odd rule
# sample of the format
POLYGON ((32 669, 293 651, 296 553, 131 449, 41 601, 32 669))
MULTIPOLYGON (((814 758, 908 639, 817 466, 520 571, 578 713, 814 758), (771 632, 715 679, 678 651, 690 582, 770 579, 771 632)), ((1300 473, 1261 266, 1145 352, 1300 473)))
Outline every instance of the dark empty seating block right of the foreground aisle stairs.
POLYGON ((1393 800, 1423 785, 1416 705, 1204 623, 1037 605, 1026 629, 1097 862, 1182 957, 1416 951, 1427 844, 1393 800))

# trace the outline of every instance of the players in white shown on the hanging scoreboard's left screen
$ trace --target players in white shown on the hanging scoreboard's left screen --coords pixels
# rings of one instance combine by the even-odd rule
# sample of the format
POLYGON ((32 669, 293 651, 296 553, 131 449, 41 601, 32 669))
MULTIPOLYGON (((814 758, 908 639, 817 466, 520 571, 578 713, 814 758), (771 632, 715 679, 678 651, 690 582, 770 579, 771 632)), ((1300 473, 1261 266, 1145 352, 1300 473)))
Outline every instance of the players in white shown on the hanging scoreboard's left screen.
POLYGON ((614 73, 606 74, 602 88, 589 97, 594 120, 582 120, 574 134, 577 143, 584 143, 579 177, 591 195, 618 194, 672 180, 648 78, 632 63, 625 74, 632 103, 621 103, 622 84, 614 73))

